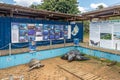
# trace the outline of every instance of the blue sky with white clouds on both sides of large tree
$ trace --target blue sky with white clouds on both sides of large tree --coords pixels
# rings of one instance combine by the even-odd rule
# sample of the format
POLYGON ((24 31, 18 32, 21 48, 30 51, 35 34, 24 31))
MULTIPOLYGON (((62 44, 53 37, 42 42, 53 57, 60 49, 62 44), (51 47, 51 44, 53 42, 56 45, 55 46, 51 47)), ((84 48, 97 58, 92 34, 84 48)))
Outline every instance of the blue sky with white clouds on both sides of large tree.
MULTIPOLYGON (((0 3, 15 4, 28 7, 31 4, 40 4, 43 0, 0 0, 0 3)), ((78 9, 81 12, 95 10, 97 6, 104 7, 120 4, 120 0, 78 0, 78 9)))

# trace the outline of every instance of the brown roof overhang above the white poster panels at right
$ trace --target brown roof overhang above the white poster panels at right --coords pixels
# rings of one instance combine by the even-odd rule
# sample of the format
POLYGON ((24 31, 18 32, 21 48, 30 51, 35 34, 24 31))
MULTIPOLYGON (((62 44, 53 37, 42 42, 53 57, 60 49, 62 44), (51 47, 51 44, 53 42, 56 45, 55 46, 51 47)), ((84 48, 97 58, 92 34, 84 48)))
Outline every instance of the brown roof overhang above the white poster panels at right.
POLYGON ((111 6, 99 10, 89 11, 83 13, 82 16, 85 19, 90 18, 109 18, 114 16, 120 16, 120 5, 111 6))

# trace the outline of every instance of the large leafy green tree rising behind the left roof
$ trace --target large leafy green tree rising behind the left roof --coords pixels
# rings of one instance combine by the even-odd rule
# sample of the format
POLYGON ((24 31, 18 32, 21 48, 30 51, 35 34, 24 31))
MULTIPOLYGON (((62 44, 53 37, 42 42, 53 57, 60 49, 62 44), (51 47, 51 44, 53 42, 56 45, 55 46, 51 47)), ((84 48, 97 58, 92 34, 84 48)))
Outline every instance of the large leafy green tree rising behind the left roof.
POLYGON ((80 13, 77 0, 44 0, 41 5, 31 5, 30 7, 69 14, 80 13))

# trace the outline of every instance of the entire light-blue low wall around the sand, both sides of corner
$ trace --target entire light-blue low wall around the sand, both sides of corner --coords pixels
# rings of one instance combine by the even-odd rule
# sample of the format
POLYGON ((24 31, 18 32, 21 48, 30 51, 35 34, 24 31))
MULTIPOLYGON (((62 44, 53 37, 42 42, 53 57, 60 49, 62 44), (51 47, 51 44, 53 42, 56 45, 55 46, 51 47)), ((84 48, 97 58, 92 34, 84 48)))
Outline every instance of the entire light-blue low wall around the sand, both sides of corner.
POLYGON ((32 58, 43 60, 43 59, 60 56, 73 49, 78 49, 80 52, 85 53, 87 55, 96 56, 99 58, 106 58, 120 62, 120 55, 102 52, 98 50, 92 50, 84 47, 73 46, 73 47, 65 47, 65 48, 56 48, 51 50, 41 50, 34 53, 23 53, 23 54, 11 55, 11 56, 1 56, 0 69, 28 63, 32 58))

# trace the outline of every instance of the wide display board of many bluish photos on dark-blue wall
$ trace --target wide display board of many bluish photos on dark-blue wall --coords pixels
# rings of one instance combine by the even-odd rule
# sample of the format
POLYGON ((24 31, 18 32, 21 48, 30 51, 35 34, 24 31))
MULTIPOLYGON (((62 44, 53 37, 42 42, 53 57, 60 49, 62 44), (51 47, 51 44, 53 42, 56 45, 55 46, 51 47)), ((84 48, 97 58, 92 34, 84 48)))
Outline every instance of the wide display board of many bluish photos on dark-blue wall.
POLYGON ((12 43, 71 38, 71 26, 54 24, 11 23, 12 43))

